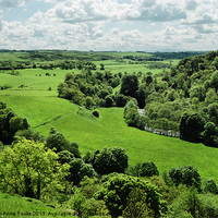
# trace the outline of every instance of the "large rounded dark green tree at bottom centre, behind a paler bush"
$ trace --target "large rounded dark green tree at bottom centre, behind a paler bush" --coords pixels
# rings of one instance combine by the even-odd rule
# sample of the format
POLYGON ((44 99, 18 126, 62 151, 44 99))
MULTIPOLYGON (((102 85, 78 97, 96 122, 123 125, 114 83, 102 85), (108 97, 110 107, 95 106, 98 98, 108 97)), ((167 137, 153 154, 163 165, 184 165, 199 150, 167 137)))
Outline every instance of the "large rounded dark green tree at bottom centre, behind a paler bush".
POLYGON ((146 199, 143 203, 154 211, 154 217, 160 216, 164 204, 157 189, 138 178, 124 174, 113 175, 104 183, 104 187, 95 194, 95 197, 104 199, 110 215, 118 217, 122 215, 129 201, 131 201, 130 193, 136 189, 142 190, 143 194, 146 194, 146 199))

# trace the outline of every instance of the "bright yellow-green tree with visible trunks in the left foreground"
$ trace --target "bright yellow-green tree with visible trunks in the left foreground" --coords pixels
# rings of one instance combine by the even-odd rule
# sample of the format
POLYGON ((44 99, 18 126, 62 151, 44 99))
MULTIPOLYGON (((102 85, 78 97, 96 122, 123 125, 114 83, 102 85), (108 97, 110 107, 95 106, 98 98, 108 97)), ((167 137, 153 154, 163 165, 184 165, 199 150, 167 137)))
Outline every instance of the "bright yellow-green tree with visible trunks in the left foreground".
POLYGON ((22 140, 0 153, 0 189, 2 192, 41 198, 63 189, 68 165, 45 144, 22 140))

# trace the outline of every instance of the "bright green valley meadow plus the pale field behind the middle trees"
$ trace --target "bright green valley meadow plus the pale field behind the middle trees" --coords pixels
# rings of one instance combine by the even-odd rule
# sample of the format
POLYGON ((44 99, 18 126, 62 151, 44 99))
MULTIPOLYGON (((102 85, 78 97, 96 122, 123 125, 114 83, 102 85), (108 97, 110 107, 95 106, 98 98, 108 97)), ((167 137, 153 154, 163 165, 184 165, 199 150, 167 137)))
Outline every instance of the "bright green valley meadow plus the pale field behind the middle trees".
MULTIPOLYGON (((112 73, 161 71, 114 60, 97 61, 98 69, 101 62, 112 73)), ((78 106, 58 98, 58 84, 63 82, 66 72, 72 71, 75 72, 26 69, 19 70, 21 75, 17 76, 1 72, 0 86, 12 87, 0 90, 0 101, 19 116, 26 117, 31 126, 45 136, 55 126, 69 141, 78 143, 82 155, 105 146, 119 146, 126 149, 130 166, 140 161, 154 161, 162 173, 173 167, 192 165, 198 169, 203 179, 211 178, 218 182, 217 149, 129 128, 123 119, 123 108, 99 108, 100 118, 97 119, 90 116, 90 111, 78 113, 78 106), (51 75, 46 76, 47 72, 51 75), (49 87, 51 90, 48 90, 49 87)))

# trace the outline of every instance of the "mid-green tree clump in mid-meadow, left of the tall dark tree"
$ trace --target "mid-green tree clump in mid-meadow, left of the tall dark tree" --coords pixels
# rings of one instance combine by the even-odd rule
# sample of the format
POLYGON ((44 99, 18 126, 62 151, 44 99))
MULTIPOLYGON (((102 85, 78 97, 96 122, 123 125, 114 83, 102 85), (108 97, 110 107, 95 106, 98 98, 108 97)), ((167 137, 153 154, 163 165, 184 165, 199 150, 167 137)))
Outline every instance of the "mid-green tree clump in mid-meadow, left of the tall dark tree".
POLYGON ((114 98, 112 88, 120 84, 120 76, 108 71, 84 71, 80 74, 68 73, 64 83, 58 87, 59 97, 72 100, 74 104, 94 107, 111 107, 114 98))

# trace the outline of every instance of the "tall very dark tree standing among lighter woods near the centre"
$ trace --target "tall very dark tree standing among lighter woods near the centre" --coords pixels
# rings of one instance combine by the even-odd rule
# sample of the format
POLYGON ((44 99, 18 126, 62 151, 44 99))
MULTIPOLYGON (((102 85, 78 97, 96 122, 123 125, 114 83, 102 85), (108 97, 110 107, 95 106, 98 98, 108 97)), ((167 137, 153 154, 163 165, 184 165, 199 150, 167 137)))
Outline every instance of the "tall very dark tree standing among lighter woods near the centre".
POLYGON ((124 75, 122 77, 120 93, 125 96, 136 97, 136 92, 138 89, 138 78, 136 75, 124 75))

